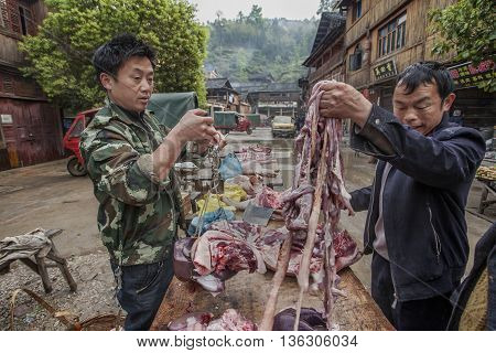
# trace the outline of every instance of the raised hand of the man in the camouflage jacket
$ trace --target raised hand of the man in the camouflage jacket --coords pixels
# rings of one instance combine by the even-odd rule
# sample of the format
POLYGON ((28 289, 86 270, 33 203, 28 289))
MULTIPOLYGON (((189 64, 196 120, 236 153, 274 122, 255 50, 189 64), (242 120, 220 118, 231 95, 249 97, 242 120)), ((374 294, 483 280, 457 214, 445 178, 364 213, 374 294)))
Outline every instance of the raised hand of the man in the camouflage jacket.
POLYGON ((188 110, 171 130, 170 135, 181 141, 182 145, 187 141, 208 141, 215 142, 215 136, 218 133, 213 127, 214 118, 207 117, 206 111, 202 109, 188 110))

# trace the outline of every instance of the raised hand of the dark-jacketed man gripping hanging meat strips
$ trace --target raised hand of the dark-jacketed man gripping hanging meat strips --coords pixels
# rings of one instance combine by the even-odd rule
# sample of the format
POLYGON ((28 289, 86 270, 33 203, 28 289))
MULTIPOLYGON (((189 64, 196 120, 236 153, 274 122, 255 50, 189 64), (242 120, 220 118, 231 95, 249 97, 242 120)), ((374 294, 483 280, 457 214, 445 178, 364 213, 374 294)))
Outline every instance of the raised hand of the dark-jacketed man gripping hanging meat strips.
POLYGON ((367 121, 371 103, 351 85, 341 82, 321 86, 324 94, 319 105, 320 114, 325 118, 352 119, 359 127, 367 121))

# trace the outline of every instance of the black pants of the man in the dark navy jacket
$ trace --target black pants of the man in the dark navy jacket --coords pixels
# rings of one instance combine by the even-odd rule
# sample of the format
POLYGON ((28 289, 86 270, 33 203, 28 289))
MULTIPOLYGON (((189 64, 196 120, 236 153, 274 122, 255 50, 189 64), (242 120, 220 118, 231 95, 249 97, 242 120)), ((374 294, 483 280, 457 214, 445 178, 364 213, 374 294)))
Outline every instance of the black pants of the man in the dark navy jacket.
POLYGON ((371 296, 385 317, 401 331, 438 331, 445 330, 453 309, 450 295, 422 300, 395 302, 389 261, 374 253, 371 263, 371 296))

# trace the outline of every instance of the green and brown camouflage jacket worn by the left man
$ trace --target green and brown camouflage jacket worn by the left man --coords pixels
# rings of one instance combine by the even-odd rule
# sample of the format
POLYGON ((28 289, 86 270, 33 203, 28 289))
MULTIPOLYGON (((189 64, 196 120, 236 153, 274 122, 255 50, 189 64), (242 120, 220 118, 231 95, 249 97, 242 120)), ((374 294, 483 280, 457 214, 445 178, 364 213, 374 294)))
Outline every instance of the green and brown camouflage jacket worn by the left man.
POLYGON ((117 265, 152 264, 172 256, 181 210, 179 185, 152 172, 152 152, 168 130, 107 100, 83 131, 79 150, 100 203, 98 229, 117 265))

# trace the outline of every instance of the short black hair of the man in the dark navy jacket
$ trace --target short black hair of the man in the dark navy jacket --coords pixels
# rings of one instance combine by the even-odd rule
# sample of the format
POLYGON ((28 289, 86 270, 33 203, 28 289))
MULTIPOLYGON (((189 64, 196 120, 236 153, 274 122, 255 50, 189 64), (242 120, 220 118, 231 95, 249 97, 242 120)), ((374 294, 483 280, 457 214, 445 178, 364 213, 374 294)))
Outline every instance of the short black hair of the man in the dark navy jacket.
POLYGON ((411 94, 420 84, 435 82, 438 93, 442 100, 454 90, 453 78, 448 69, 438 62, 419 62, 408 66, 398 75, 396 85, 405 86, 407 94, 411 94))

